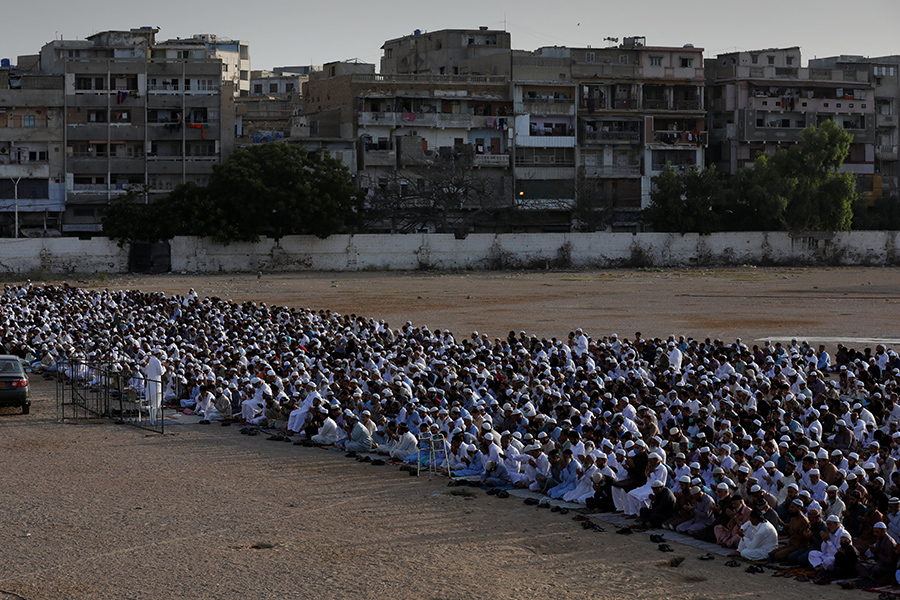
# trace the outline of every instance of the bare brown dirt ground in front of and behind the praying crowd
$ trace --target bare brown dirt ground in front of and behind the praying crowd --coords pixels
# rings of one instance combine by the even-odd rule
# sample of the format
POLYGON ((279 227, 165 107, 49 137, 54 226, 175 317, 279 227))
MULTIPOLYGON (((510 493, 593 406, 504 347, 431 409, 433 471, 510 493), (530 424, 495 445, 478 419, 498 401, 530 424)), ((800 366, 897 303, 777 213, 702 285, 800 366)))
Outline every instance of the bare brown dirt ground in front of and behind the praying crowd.
MULTIPOLYGON (((70 282, 74 283, 74 282, 70 282)), ((100 282, 84 282, 99 286, 100 282)), ((165 275, 108 287, 330 308, 457 334, 900 339, 893 269, 165 275)), ((862 345, 862 344, 860 344, 862 345)), ((900 345, 900 343, 898 343, 900 345)), ((895 346, 896 347, 896 346, 895 346)), ((60 424, 54 386, 0 410, 0 590, 27 600, 864 597, 584 531, 516 498, 450 495, 236 427, 60 424)), ((2 593, 0 593, 2 597, 2 593)))

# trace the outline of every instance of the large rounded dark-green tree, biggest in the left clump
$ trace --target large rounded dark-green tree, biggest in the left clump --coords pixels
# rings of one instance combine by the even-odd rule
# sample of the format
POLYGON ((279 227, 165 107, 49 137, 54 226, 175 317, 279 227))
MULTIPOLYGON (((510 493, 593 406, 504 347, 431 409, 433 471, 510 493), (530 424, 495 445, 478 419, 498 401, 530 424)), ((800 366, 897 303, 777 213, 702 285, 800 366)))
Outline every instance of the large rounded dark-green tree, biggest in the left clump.
POLYGON ((235 151, 213 169, 213 236, 221 242, 311 233, 328 237, 358 222, 362 197, 331 156, 286 144, 235 151))

